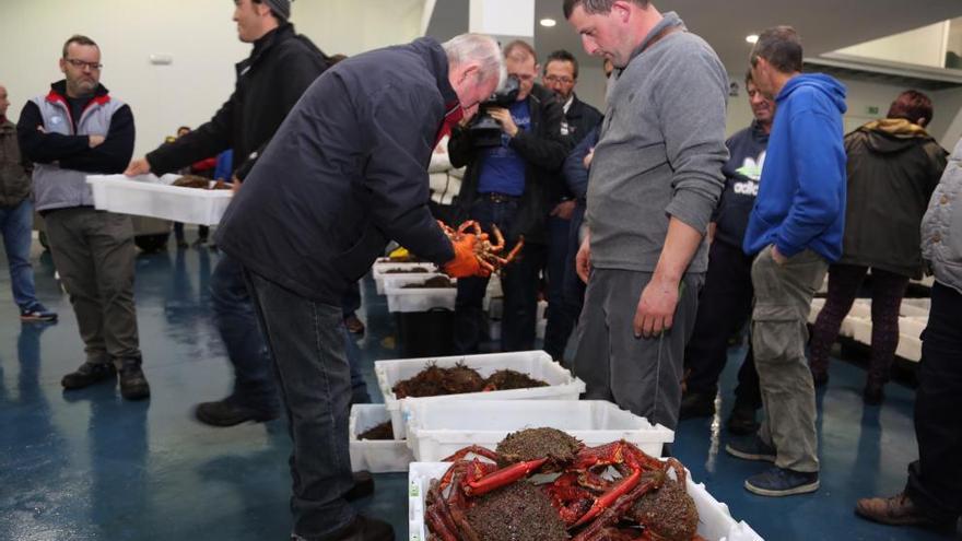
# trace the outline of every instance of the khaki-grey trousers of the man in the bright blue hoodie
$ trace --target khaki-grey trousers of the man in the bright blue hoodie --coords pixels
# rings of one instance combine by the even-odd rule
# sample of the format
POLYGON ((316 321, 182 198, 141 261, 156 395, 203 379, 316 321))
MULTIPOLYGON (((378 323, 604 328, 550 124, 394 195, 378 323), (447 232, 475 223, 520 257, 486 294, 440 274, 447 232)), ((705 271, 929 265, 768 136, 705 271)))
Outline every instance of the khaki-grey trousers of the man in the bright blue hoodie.
POLYGON ((816 388, 805 344, 811 301, 828 271, 811 250, 778 264, 771 246, 752 264, 752 345, 765 409, 759 436, 777 450, 775 466, 801 472, 819 471, 816 388))

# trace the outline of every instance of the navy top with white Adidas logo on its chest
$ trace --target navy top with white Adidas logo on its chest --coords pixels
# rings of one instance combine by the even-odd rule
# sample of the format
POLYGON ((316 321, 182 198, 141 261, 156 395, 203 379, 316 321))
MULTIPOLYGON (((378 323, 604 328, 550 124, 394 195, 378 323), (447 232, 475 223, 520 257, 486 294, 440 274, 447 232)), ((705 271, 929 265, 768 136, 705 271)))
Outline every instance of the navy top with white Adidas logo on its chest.
POLYGON ((728 162, 722 167, 725 191, 722 192, 722 200, 718 201, 712 221, 717 224, 715 240, 739 249, 744 240, 748 217, 759 195, 759 179, 765 163, 769 134, 754 121, 731 136, 725 145, 730 154, 728 162))

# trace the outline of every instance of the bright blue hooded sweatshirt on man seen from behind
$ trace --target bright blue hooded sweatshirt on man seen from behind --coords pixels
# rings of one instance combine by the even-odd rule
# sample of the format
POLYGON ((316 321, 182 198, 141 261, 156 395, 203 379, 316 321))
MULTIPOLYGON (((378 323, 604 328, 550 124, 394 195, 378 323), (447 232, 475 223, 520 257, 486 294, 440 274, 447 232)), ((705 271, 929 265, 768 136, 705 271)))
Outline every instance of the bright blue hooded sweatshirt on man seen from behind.
POLYGON ((797 75, 775 103, 742 248, 754 255, 774 244, 785 257, 811 249, 834 262, 845 228, 845 86, 829 75, 797 75))

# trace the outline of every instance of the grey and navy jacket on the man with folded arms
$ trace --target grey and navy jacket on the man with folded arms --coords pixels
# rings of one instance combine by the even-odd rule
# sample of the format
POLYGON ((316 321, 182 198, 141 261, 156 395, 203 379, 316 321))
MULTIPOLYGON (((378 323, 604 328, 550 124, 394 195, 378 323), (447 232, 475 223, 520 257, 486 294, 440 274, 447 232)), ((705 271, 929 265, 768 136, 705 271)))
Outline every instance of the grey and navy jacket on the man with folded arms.
POLYGON ((133 114, 103 85, 73 118, 67 83, 51 84, 24 106, 16 131, 21 151, 35 163, 33 197, 42 213, 93 207, 86 175, 122 173, 133 155, 133 114), (89 136, 105 140, 91 149, 89 136))

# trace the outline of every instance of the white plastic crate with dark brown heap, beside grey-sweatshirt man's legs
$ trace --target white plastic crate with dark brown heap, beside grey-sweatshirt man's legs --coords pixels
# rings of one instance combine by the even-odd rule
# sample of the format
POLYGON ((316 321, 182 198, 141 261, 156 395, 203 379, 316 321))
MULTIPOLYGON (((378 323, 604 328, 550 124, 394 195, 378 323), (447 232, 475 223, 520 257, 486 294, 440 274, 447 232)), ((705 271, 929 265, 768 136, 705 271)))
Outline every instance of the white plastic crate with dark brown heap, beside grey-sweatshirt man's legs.
POLYGON ((443 401, 443 400, 577 400, 585 392, 585 383, 551 360, 543 351, 520 351, 515 353, 490 353, 485 355, 461 355, 448 357, 403 358, 376 361, 374 374, 377 386, 384 395, 384 402, 390 413, 395 437, 407 437, 407 426, 401 411, 401 401, 443 401), (406 398, 398 400, 391 388, 399 381, 414 377, 429 363, 449 368, 465 363, 478 371, 481 377, 489 377, 500 369, 513 369, 527 374, 548 384, 548 387, 514 389, 490 392, 466 392, 443 397, 406 398))

